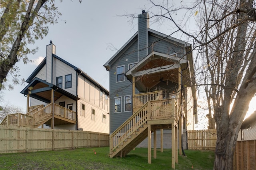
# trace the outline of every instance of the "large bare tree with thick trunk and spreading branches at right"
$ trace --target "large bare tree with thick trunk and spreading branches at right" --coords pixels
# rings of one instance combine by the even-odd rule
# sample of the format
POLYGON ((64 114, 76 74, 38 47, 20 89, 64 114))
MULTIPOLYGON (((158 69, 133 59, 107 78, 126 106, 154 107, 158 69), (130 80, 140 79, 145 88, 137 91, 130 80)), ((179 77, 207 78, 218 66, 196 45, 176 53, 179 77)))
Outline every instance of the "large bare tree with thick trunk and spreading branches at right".
POLYGON ((208 100, 210 128, 217 129, 214 169, 229 170, 238 132, 256 94, 256 12, 253 0, 200 0, 195 4, 156 4, 164 18, 194 41, 197 84, 208 100), (186 14, 178 18, 177 14, 186 14), (187 31, 196 16, 198 30, 187 31), (213 117, 212 117, 213 113, 213 117), (214 123, 215 122, 215 123, 214 123))

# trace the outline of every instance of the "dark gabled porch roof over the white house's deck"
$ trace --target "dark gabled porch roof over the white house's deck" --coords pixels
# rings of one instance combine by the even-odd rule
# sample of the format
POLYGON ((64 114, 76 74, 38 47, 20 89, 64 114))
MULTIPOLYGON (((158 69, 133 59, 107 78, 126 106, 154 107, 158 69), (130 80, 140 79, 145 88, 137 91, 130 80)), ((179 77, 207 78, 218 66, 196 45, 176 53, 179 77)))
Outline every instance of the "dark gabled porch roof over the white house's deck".
POLYGON ((50 103, 52 98, 52 89, 55 91, 54 92, 55 101, 63 95, 73 100, 80 100, 79 97, 72 95, 71 93, 59 88, 56 85, 53 85, 51 83, 48 83, 47 81, 39 79, 38 77, 34 78, 20 93, 24 95, 29 94, 30 97, 33 97, 45 103, 50 103), (33 89, 29 90, 29 87, 33 87, 33 89))

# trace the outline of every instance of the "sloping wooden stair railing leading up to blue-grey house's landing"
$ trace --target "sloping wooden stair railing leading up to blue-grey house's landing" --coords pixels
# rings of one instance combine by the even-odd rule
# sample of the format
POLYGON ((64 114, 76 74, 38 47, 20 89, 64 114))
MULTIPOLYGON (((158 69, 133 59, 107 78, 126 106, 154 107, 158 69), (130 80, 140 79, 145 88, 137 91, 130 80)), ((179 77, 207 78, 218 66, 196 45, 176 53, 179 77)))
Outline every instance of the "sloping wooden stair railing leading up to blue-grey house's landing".
POLYGON ((124 142, 124 140, 126 140, 130 134, 132 134, 133 132, 135 132, 136 130, 138 130, 138 128, 141 127, 141 125, 143 125, 147 120, 147 114, 146 113, 146 108, 148 107, 148 102, 145 103, 138 111, 136 111, 136 113, 134 113, 129 119, 127 119, 122 125, 120 125, 120 127, 118 127, 111 135, 110 135, 110 151, 114 150, 117 146, 119 146, 122 142, 124 142), (144 110, 144 111, 143 111, 144 110), (140 117, 139 114, 141 112, 142 113, 140 116, 143 115, 143 117, 140 117), (137 121, 137 122, 131 122, 131 121, 135 121, 136 117, 140 117, 140 120, 143 121, 137 121), (134 125, 131 125, 134 124, 134 125), (139 125, 138 125, 139 124, 139 125), (122 130, 122 128, 124 128, 126 125, 131 126, 128 130, 123 130, 122 134, 119 134, 120 136, 116 136, 118 133, 120 133, 120 130, 122 130), (119 137, 120 141, 114 141, 113 138, 114 137, 119 137))

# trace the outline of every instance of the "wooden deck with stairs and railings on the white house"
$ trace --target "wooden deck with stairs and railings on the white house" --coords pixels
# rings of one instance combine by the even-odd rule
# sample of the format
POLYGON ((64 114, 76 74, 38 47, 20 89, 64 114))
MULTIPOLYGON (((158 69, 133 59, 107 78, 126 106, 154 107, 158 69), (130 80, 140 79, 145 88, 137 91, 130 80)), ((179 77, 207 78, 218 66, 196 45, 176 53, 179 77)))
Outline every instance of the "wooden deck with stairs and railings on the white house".
POLYGON ((76 123, 76 112, 66 109, 57 104, 38 105, 29 107, 26 114, 15 113, 7 115, 1 125, 5 126, 23 126, 23 127, 39 127, 40 125, 52 124, 52 116, 54 115, 54 125, 65 125, 76 123), (54 114, 52 114, 54 113, 54 114))

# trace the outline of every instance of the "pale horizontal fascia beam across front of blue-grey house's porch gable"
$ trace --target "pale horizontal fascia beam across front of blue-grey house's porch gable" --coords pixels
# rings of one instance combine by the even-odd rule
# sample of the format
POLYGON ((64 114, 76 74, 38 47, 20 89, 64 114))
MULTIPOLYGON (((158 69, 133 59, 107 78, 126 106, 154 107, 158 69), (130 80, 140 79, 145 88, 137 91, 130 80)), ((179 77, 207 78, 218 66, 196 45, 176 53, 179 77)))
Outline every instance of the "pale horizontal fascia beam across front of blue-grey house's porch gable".
POLYGON ((164 65, 164 66, 161 66, 161 67, 156 67, 156 68, 152 68, 152 69, 132 73, 132 76, 137 77, 137 76, 142 76, 142 75, 146 75, 146 74, 153 74, 153 73, 168 71, 168 70, 171 70, 171 69, 177 69, 179 67, 180 67, 180 64, 178 64, 178 63, 171 64, 171 65, 164 65))

